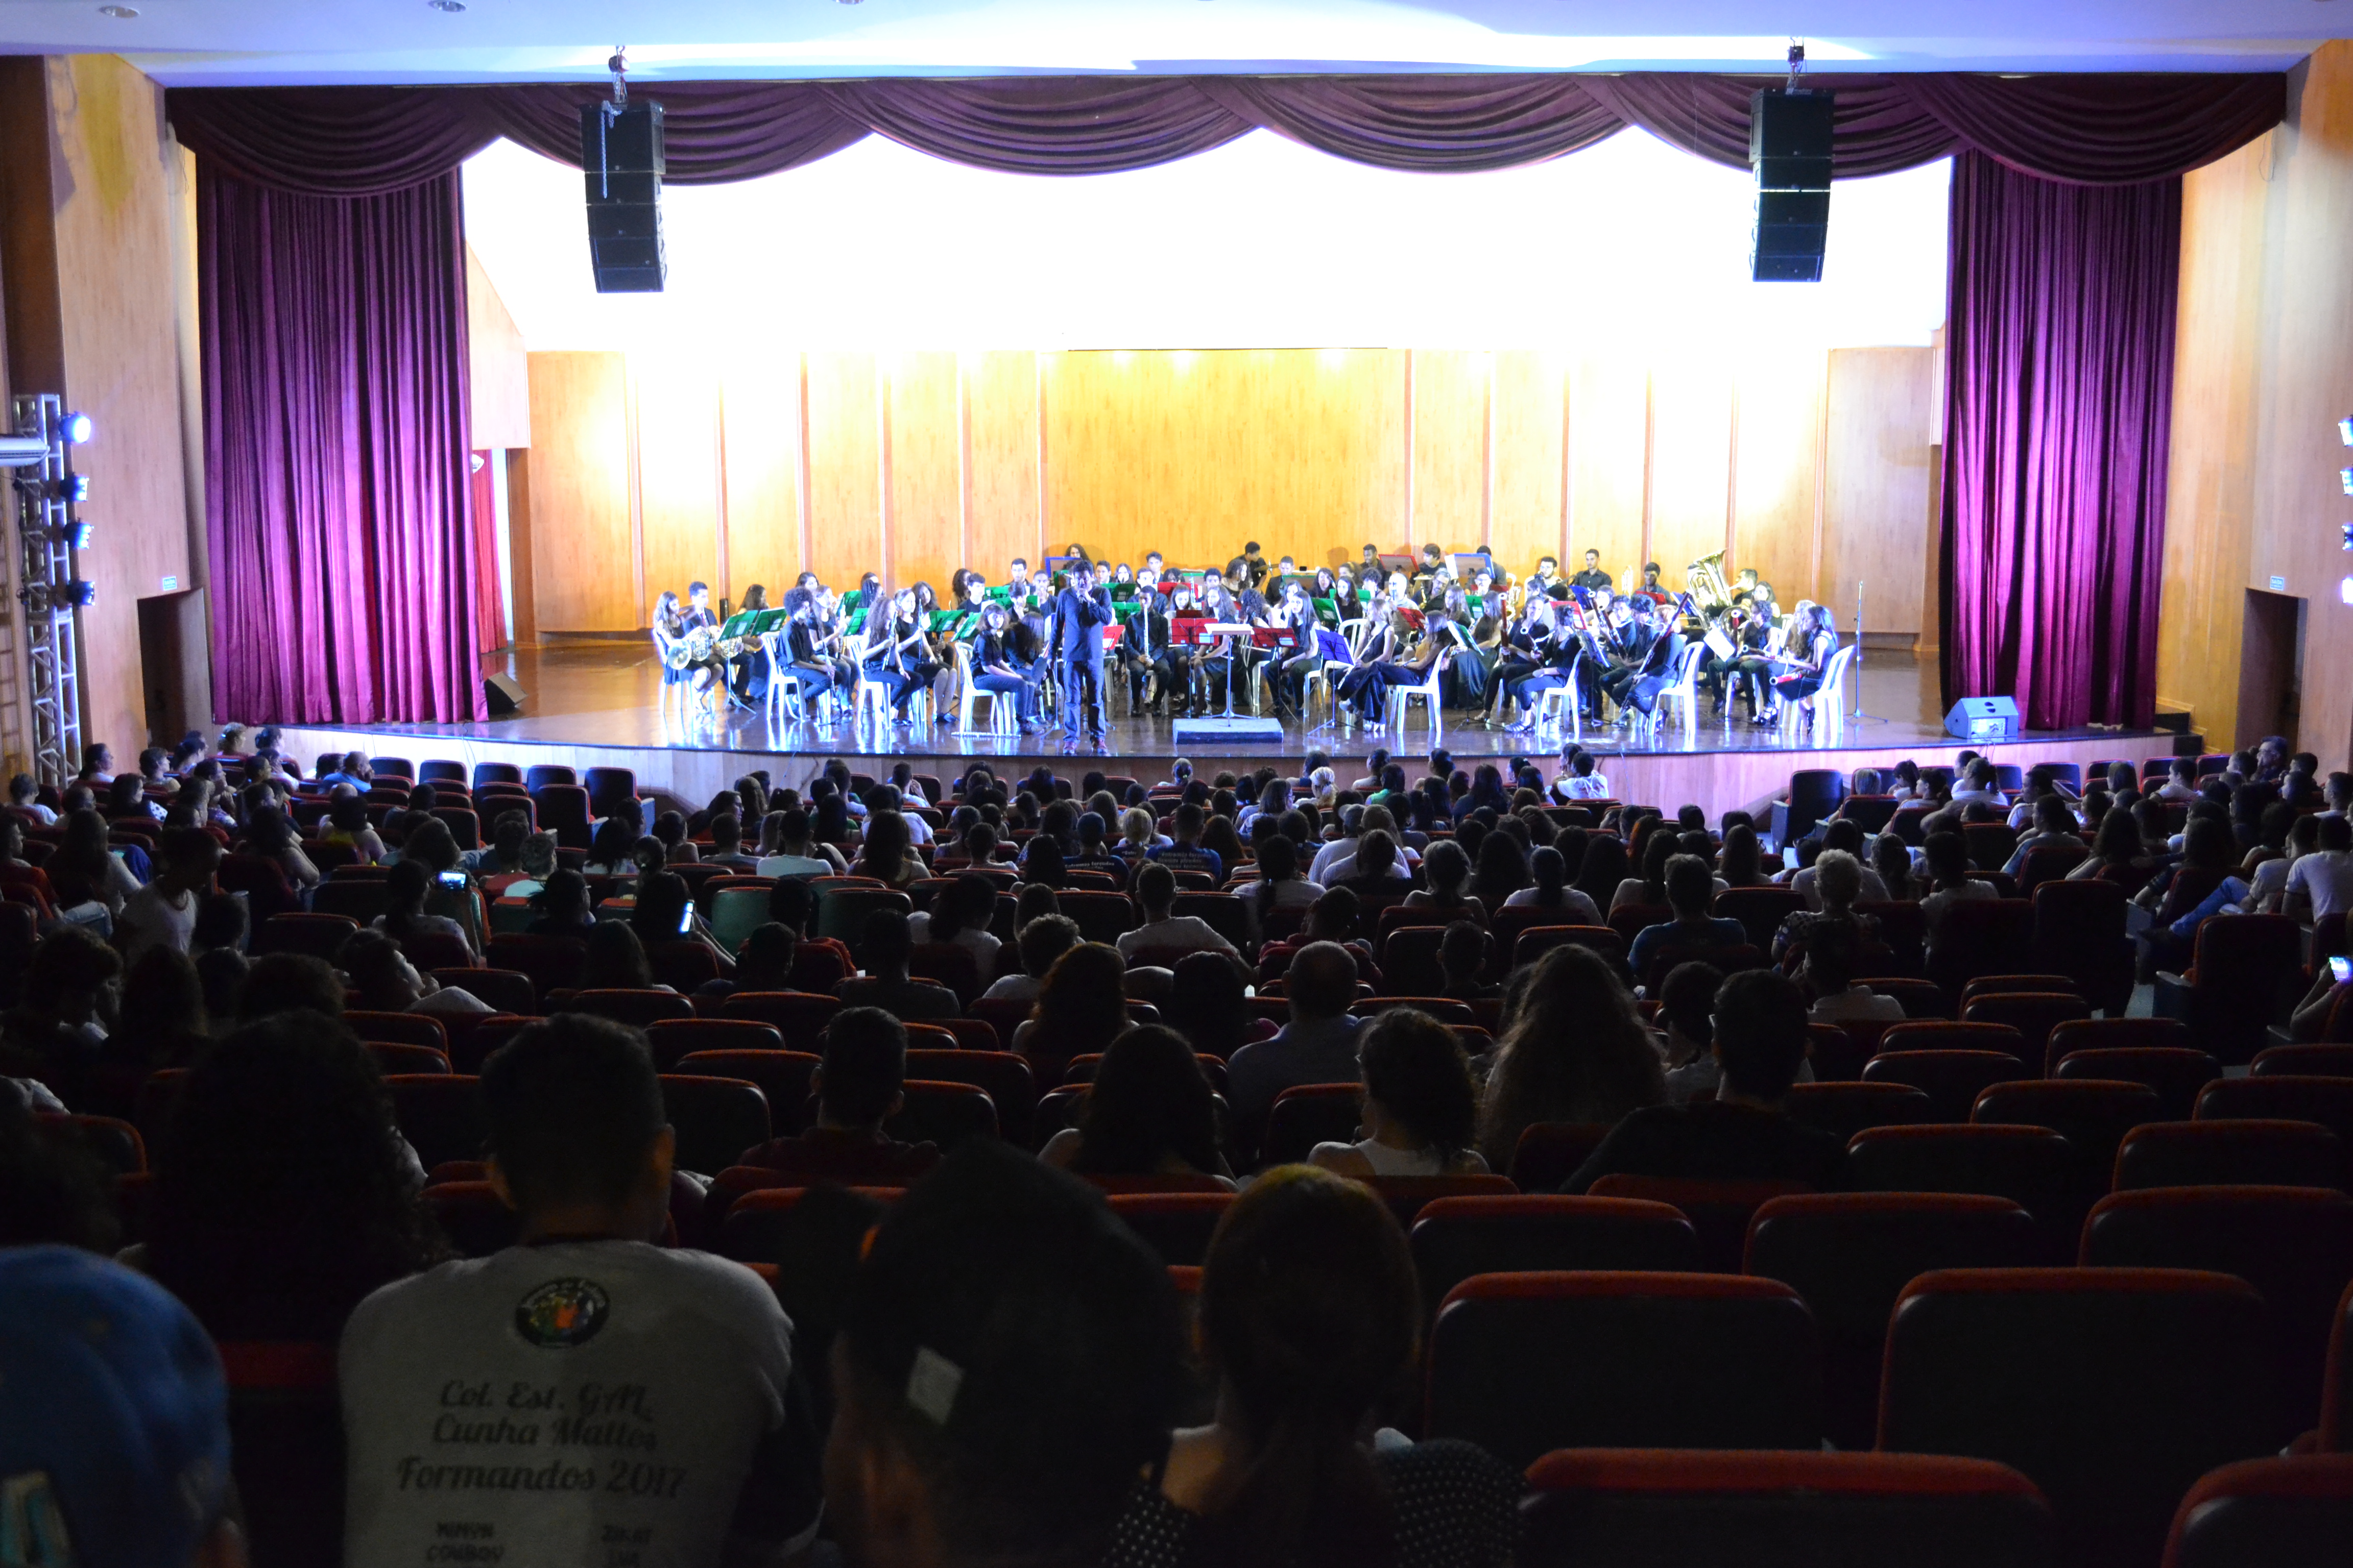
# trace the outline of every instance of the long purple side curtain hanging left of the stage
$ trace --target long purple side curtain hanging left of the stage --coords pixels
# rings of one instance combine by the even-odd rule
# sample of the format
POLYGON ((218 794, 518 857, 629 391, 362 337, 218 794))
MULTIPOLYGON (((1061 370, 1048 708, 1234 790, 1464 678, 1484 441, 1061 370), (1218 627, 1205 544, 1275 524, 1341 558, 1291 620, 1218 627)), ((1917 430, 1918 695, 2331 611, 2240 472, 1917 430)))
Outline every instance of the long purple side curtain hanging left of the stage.
POLYGON ((456 172, 318 197, 200 160, 198 284, 216 710, 482 717, 456 172))

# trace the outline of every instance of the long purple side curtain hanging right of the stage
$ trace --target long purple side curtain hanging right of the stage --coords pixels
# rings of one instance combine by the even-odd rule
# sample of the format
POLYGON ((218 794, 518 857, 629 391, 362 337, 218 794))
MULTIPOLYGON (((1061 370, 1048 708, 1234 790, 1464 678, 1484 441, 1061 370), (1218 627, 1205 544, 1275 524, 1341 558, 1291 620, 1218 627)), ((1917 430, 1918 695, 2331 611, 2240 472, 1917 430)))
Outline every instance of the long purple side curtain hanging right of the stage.
POLYGON ((1953 160, 1944 701, 2146 726, 2158 693, 2181 181, 1953 160))

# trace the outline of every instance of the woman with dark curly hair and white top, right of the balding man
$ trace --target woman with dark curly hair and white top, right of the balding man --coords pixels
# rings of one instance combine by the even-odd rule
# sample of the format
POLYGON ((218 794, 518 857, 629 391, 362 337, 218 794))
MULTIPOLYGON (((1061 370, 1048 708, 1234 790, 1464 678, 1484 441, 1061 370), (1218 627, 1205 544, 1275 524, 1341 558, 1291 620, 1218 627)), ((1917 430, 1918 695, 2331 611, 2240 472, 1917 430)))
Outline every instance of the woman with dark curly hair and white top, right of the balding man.
POLYGON ((1478 1091, 1454 1030, 1409 1006, 1365 1025, 1365 1100, 1355 1143, 1318 1143, 1308 1164, 1334 1175, 1478 1175, 1478 1091))

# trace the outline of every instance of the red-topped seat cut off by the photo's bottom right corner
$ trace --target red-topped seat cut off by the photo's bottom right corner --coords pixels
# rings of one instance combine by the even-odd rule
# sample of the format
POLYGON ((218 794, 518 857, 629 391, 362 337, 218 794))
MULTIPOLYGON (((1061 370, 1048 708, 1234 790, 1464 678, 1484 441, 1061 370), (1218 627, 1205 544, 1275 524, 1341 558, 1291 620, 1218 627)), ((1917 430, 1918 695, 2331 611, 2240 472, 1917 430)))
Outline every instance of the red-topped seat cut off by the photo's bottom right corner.
POLYGON ((2353 1563, 2353 1455, 2240 1460, 2181 1497, 2165 1568, 2353 1563))

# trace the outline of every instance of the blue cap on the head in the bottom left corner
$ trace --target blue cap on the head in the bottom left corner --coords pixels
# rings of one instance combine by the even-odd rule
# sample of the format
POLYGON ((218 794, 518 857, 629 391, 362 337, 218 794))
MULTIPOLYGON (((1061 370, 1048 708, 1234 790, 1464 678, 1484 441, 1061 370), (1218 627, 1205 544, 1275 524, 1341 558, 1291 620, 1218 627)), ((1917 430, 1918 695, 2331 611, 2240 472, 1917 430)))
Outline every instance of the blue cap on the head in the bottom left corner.
POLYGON ((0 1248, 0 1566, 181 1568, 226 1490, 228 1385, 195 1316, 94 1253, 0 1248))

